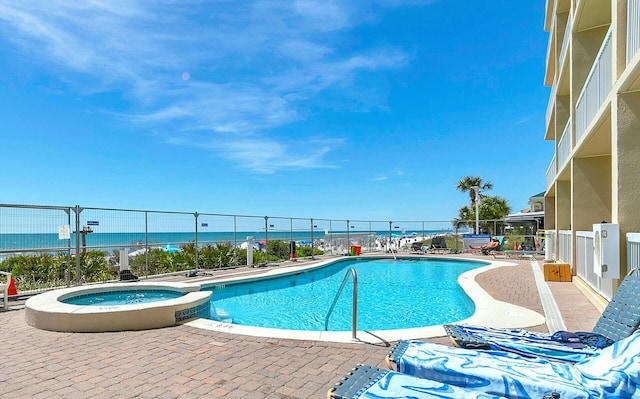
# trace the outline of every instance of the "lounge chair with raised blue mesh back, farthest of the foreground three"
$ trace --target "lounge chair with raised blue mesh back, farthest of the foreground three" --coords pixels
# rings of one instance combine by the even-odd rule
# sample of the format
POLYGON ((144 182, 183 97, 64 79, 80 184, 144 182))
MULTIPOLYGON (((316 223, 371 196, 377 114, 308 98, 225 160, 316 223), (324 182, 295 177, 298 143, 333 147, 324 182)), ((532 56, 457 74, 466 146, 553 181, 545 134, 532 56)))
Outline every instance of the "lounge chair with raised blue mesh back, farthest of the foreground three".
MULTIPOLYGON (((633 272, 633 271, 632 271, 633 272)), ((627 275, 591 332, 543 333, 447 324, 454 345, 577 362, 624 339, 640 327, 640 275, 627 275)))

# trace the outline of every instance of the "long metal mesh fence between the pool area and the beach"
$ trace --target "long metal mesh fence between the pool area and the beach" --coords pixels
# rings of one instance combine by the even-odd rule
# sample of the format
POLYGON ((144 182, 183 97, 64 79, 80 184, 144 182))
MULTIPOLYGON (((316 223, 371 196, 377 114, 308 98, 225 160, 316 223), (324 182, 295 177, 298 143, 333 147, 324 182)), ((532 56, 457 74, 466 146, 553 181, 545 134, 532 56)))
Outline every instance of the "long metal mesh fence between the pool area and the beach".
MULTIPOLYGON (((102 253, 104 261, 114 271, 120 263, 120 251, 126 250, 130 257, 138 258, 138 265, 142 265, 141 275, 149 276, 157 273, 152 265, 152 255, 157 258, 165 256, 164 253, 183 252, 183 249, 189 249, 192 257, 171 259, 182 262, 176 266, 177 270, 235 267, 246 264, 246 252, 242 251, 246 251, 248 245, 264 253, 265 263, 289 259, 292 251, 286 251, 285 255, 282 250, 276 253, 276 249, 283 246, 276 246, 278 241, 286 246, 295 243, 291 248, 310 257, 345 255, 354 246, 360 247, 362 252, 400 251, 420 237, 455 233, 456 229, 464 232, 465 224, 473 223, 0 204, 0 266, 6 270, 14 266, 12 258, 21 257, 19 267, 30 267, 30 272, 44 274, 54 286, 60 286, 95 280, 95 276, 86 275, 86 265, 82 263, 88 261, 83 260, 86 254, 102 253), (222 247, 233 252, 226 263, 205 256, 207 248, 222 247), (38 265, 24 265, 32 258, 38 258, 33 261, 38 265)), ((498 221, 483 223, 489 228, 499 224, 498 221)))

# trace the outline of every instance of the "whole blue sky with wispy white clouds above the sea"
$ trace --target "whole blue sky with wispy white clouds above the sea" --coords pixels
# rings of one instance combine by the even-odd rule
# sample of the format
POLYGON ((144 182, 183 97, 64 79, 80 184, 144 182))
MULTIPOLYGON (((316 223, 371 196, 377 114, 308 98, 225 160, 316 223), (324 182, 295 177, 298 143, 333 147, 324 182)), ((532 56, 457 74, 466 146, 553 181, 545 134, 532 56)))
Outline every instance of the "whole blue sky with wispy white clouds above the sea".
POLYGON ((0 0, 0 203, 450 220, 545 189, 544 2, 0 0))

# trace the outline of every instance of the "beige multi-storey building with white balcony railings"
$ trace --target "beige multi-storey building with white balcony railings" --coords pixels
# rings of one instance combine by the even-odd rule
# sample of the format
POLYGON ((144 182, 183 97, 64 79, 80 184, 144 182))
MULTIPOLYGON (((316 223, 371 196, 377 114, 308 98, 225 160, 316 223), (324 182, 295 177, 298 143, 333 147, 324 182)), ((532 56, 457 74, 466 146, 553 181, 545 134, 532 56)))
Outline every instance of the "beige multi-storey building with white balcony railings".
POLYGON ((544 138, 555 144, 544 194, 547 257, 571 264, 606 297, 619 279, 592 275, 588 233, 603 221, 619 225, 623 276, 625 237, 640 232, 640 0, 547 0, 545 30, 544 138))

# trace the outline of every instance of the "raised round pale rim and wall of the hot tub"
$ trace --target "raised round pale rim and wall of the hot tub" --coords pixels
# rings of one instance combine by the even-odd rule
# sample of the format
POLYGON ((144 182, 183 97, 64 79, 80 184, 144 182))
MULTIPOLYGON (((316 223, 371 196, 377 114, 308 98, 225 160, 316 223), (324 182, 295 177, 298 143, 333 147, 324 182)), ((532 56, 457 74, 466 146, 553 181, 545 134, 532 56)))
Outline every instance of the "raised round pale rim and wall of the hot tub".
POLYGON ((199 284, 179 282, 135 282, 92 284, 38 294, 25 302, 25 321, 42 330, 59 332, 133 331, 181 324, 206 305, 212 292, 200 291, 199 284), (61 302, 74 294, 129 290, 171 290, 179 298, 117 306, 72 305, 61 302))

